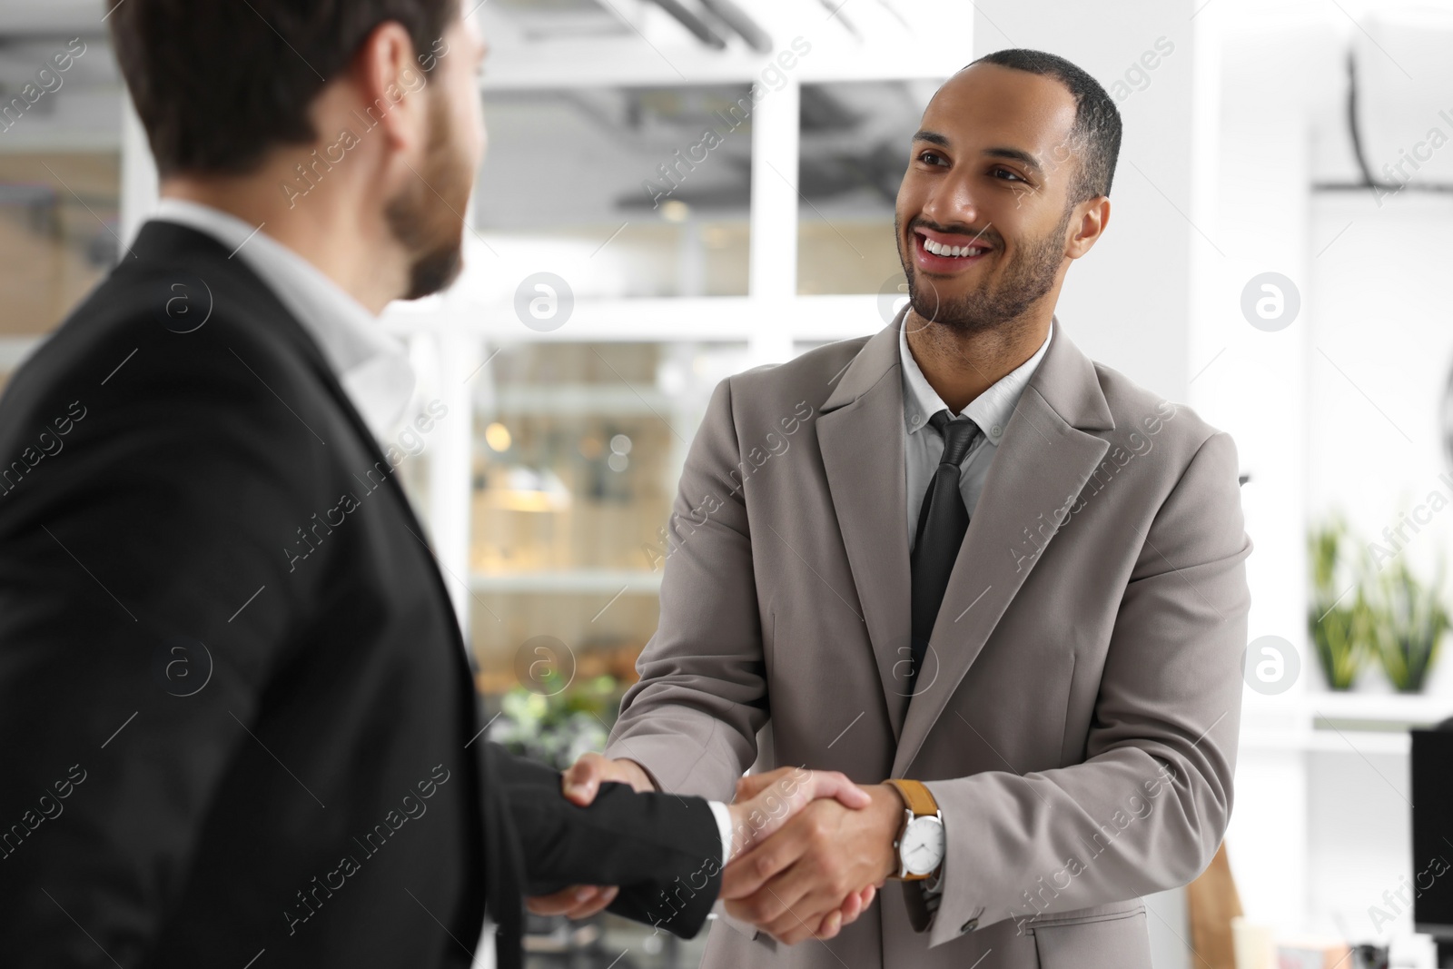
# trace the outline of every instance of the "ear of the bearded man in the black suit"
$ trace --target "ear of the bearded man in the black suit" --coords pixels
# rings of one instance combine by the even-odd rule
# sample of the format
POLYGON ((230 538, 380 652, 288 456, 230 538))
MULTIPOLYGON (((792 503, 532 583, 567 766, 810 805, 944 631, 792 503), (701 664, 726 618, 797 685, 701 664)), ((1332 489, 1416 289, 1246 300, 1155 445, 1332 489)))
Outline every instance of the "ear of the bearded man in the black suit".
POLYGON ((427 76, 416 62, 408 31, 395 20, 378 25, 359 46, 350 73, 368 129, 381 135, 391 151, 420 157, 429 135, 423 93, 427 76))

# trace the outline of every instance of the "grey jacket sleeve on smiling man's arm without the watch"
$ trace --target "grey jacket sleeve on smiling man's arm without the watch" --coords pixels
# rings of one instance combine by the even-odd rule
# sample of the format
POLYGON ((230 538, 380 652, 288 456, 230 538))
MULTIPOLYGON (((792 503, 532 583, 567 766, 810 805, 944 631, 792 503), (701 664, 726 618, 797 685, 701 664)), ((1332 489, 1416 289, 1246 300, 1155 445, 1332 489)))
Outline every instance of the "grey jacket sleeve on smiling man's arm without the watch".
POLYGON ((766 661, 731 382, 712 394, 658 549, 661 620, 606 748, 663 790, 729 800, 767 722, 766 661))

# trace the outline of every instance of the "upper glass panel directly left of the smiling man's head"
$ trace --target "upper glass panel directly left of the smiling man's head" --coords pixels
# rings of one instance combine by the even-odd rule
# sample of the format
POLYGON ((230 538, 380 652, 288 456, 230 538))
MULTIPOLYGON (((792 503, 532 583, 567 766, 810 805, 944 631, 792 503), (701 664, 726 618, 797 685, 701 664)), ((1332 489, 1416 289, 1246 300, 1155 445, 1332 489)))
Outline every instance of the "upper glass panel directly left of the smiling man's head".
POLYGON ((798 292, 879 293, 902 280, 894 202, 940 81, 802 86, 798 292))

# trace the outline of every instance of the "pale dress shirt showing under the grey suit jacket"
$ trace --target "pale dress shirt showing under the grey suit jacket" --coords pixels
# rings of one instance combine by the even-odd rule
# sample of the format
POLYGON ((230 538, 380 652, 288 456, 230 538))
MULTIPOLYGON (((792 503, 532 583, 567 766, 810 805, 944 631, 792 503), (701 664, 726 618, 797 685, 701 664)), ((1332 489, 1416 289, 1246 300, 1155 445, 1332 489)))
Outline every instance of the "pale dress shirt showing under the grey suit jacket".
MULTIPOLYGON (((969 517, 974 516, 974 506, 979 503, 984 491, 984 479, 988 478, 989 463, 998 450, 998 443, 1008 427, 1008 418, 1014 414, 1020 394, 1029 385, 1029 378, 1035 375, 1039 362, 1045 359, 1045 350, 1055 337, 1055 323, 1051 318, 1049 333, 1045 341, 1017 368, 989 385, 987 391, 969 401, 969 405, 955 414, 937 391, 923 375, 918 362, 908 349, 908 320, 898 328, 898 356, 902 363, 904 381, 904 481, 908 498, 908 552, 912 552, 918 539, 918 511, 923 507, 923 494, 928 490, 933 472, 943 459, 943 434, 928 426, 928 418, 939 411, 949 411, 952 417, 969 417, 982 431, 969 447, 963 462, 959 465, 959 492, 963 495, 963 507, 969 517)), ((947 837, 949 819, 943 818, 944 835, 947 837)), ((943 866, 927 882, 923 883, 927 893, 928 911, 936 912, 939 893, 943 888, 943 866)))

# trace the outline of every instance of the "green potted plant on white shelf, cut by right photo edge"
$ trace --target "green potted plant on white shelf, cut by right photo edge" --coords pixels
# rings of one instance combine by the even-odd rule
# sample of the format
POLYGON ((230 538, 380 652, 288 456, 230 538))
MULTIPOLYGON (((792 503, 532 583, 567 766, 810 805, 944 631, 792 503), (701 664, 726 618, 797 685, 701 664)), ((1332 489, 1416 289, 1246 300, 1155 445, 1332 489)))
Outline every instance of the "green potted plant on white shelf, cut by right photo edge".
POLYGON ((1441 597, 1444 574, 1440 556, 1431 585, 1424 585, 1401 558, 1377 575, 1377 607, 1369 613, 1372 642, 1383 673, 1401 693, 1422 690, 1443 635, 1453 625, 1441 597))

